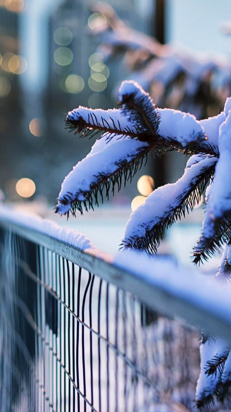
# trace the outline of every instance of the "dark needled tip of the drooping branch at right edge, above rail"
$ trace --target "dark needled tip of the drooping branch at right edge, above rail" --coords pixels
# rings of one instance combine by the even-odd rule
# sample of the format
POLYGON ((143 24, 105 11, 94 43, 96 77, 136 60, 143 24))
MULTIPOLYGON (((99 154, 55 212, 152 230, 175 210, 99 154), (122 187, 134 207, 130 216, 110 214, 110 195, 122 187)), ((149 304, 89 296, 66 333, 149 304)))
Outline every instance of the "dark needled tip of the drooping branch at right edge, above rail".
POLYGON ((203 235, 199 238, 193 249, 193 262, 203 263, 208 260, 215 251, 222 247, 224 243, 231 242, 231 213, 226 214, 222 219, 215 222, 215 234, 212 239, 203 235))

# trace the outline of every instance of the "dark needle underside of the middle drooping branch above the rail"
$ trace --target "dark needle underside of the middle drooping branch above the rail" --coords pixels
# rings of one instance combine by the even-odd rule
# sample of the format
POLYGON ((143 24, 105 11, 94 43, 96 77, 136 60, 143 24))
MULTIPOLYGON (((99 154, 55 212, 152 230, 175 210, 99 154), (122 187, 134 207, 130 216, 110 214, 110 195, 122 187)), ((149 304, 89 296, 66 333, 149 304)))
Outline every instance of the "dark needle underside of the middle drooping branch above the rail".
MULTIPOLYGON (((165 229, 171 227, 171 225, 173 225, 176 220, 180 220, 182 216, 185 217, 185 211, 189 213, 189 211, 193 210, 195 204, 199 202, 210 178, 213 176, 214 170, 215 162, 213 162, 212 165, 210 164, 209 167, 200 169, 199 175, 194 176, 194 181, 191 180, 189 182, 187 190, 185 189, 185 192, 180 193, 178 197, 176 197, 175 206, 170 206, 167 213, 166 210, 164 210, 163 216, 158 216, 155 220, 148 221, 148 226, 152 225, 152 227, 151 229, 145 229, 145 235, 136 236, 136 234, 132 233, 132 236, 130 235, 123 239, 120 245, 121 248, 141 249, 149 254, 157 253, 157 248, 159 247, 160 239, 163 239, 165 229)), ((153 194, 154 193, 155 191, 153 194)), ((145 227, 146 224, 143 223, 140 226, 145 227)))

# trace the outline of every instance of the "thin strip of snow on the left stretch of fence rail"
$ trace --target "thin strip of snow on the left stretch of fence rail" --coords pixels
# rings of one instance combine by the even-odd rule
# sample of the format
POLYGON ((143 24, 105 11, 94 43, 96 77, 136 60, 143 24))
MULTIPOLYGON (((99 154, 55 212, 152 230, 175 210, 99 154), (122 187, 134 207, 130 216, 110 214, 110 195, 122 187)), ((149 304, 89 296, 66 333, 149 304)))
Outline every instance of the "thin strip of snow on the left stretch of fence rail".
POLYGON ((14 208, 3 204, 0 205, 0 220, 7 220, 16 225, 37 230, 81 250, 96 249, 90 239, 74 229, 69 229, 66 226, 60 227, 52 220, 43 219, 38 215, 17 212, 14 208))

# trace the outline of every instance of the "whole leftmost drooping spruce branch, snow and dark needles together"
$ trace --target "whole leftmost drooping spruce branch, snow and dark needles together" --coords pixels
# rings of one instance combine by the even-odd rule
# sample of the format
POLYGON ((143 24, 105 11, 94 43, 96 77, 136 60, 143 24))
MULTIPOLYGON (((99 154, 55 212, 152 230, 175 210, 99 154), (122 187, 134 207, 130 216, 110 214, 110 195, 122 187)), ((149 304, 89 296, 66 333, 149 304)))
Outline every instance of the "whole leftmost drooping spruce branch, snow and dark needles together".
POLYGON ((98 199, 109 198, 109 192, 118 191, 147 160, 150 148, 147 143, 131 140, 129 136, 109 140, 108 133, 98 139, 90 153, 74 166, 66 176, 58 196, 55 213, 75 215, 98 206, 98 199))

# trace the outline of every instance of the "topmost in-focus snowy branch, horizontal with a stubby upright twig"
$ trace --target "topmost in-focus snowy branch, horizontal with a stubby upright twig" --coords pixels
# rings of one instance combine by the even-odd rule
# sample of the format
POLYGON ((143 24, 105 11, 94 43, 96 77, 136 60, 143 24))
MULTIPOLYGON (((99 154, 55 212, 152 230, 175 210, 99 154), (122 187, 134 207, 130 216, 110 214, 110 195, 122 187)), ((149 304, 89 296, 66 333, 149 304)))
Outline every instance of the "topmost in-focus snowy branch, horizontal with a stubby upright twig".
POLYGON ((179 150, 184 153, 205 152, 218 155, 193 115, 173 109, 157 109, 149 94, 138 83, 124 81, 120 86, 120 109, 88 109, 80 106, 67 113, 66 126, 82 136, 108 132, 107 139, 129 136, 147 142, 152 152, 179 150))

